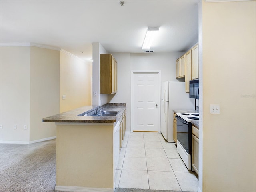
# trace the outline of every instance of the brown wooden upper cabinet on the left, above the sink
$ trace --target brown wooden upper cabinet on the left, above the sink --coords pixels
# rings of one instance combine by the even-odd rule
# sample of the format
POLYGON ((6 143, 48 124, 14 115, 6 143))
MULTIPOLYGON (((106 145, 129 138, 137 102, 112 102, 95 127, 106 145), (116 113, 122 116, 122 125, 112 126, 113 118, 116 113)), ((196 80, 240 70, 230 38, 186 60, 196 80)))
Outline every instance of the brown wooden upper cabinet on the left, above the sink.
POLYGON ((100 54, 100 93, 117 92, 117 62, 112 54, 100 54))

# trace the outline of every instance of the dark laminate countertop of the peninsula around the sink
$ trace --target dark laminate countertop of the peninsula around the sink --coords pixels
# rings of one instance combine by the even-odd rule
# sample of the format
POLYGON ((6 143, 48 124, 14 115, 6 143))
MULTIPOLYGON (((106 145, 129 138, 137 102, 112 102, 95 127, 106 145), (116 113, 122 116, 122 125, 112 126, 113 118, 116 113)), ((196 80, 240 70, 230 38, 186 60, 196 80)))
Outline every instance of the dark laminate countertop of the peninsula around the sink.
POLYGON ((84 116, 97 110, 100 106, 83 106, 68 112, 63 112, 42 119, 42 122, 55 123, 114 123, 117 122, 126 109, 126 103, 109 103, 102 106, 104 110, 119 111, 117 116, 84 116))

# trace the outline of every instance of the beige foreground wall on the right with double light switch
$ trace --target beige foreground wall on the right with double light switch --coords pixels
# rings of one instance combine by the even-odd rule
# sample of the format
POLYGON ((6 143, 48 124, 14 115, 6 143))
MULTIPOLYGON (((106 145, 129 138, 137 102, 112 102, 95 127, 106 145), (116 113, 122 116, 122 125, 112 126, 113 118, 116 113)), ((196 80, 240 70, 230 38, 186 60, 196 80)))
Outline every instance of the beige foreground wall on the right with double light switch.
POLYGON ((255 12, 255 1, 202 2, 204 192, 256 191, 255 12))

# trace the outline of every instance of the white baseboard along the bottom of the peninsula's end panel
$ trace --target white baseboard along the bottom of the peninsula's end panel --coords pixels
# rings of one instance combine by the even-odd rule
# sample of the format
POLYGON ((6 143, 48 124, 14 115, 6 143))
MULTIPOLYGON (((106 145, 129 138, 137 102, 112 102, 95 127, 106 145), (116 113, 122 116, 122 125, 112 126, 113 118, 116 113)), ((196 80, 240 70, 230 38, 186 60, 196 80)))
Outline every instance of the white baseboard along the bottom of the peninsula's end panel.
POLYGON ((72 191, 72 192, 114 192, 114 189, 109 188, 92 188, 92 187, 77 187, 77 186, 55 186, 56 191, 72 191))

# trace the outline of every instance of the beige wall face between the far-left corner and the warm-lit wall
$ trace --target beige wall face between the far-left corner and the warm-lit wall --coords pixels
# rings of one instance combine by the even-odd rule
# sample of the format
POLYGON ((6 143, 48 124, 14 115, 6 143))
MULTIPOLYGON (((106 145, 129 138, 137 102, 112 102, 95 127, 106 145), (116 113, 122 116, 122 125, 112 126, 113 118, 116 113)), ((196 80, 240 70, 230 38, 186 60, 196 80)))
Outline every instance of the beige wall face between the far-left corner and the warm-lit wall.
POLYGON ((59 113, 60 51, 31 46, 30 141, 56 136, 54 123, 42 118, 59 113))

